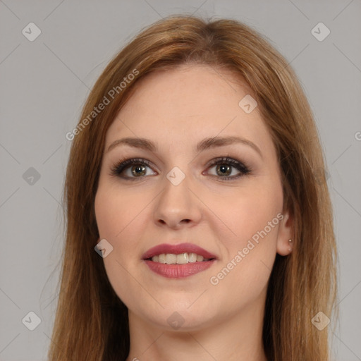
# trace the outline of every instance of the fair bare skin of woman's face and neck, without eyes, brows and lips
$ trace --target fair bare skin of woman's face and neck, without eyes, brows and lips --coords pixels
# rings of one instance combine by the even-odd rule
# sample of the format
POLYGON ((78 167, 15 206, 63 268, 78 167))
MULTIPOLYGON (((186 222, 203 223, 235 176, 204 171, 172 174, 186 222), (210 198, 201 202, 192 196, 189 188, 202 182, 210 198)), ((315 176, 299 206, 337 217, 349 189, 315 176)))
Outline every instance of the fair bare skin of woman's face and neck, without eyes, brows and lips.
MULTIPOLYGON (((264 361, 262 326, 267 283, 276 253, 290 252, 293 221, 283 209, 281 173, 271 135, 256 107, 246 114, 240 99, 252 94, 229 71, 179 66, 152 73, 121 109, 106 133, 95 214, 99 239, 114 247, 104 257, 106 274, 129 310, 130 360, 264 361), (206 137, 238 135, 255 143, 235 143, 195 152, 206 137), (123 137, 157 142, 158 152, 109 145, 123 137), (111 175, 122 157, 151 162, 145 175, 111 175), (219 157, 245 162, 251 173, 222 181, 219 157), (178 166, 179 185, 166 175, 178 166), (257 231, 277 214, 283 220, 219 280, 212 276, 235 258, 257 231), (161 243, 190 242, 217 256, 198 274, 166 279, 150 271, 142 255, 161 243), (173 312, 179 329, 167 322, 173 312)), ((226 164, 227 165, 227 164, 226 164)), ((231 167, 231 174, 240 171, 231 167)), ((174 316, 173 316, 174 317, 174 316)))

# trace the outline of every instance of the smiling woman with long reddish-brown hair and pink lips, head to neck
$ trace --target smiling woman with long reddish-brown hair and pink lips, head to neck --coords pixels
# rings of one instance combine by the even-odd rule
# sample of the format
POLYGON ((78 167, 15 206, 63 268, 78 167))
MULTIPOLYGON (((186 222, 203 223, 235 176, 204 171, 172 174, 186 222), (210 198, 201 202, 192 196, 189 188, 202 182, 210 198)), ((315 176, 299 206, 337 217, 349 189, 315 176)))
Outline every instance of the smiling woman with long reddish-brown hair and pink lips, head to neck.
POLYGON ((49 360, 329 360, 322 148, 295 73, 255 30, 148 27, 67 138, 49 360))

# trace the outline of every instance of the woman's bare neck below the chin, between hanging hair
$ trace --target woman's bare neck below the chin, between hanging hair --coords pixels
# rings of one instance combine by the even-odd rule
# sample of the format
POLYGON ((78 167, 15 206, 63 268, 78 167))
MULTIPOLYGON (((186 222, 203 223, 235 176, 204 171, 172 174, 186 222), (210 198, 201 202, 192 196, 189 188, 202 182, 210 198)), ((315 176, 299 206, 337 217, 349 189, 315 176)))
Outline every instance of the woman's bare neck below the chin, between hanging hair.
POLYGON ((126 361, 267 361, 262 343, 264 297, 207 327, 169 331, 129 310, 130 353, 126 361))

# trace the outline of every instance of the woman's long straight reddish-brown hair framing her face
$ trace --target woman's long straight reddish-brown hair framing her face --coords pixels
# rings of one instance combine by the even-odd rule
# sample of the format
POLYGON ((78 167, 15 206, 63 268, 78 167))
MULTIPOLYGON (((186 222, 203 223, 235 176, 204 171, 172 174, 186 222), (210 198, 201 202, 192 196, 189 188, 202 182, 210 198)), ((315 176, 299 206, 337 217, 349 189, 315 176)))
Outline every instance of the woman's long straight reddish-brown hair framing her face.
POLYGON ((63 194, 66 243, 49 360, 128 357, 128 310, 94 252, 99 239, 94 197, 104 140, 142 77, 183 63, 227 68, 242 77, 276 146, 284 209, 293 216, 295 237, 292 255, 276 255, 269 279, 263 331, 267 358, 329 360, 329 326, 321 330, 312 319, 318 312, 331 318, 334 311, 336 242, 312 111, 292 68, 255 30, 235 20, 193 16, 160 20, 127 44, 100 75, 68 135, 73 143, 63 194))

